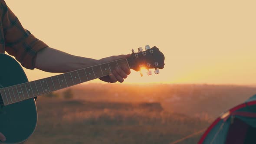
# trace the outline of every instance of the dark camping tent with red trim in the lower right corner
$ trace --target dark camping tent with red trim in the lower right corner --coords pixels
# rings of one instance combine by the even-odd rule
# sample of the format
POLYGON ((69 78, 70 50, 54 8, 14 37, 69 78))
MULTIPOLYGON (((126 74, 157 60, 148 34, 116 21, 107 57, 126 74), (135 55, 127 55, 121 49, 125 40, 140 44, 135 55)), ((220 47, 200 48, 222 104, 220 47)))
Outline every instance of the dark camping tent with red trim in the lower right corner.
POLYGON ((256 95, 222 113, 198 144, 256 144, 256 95))

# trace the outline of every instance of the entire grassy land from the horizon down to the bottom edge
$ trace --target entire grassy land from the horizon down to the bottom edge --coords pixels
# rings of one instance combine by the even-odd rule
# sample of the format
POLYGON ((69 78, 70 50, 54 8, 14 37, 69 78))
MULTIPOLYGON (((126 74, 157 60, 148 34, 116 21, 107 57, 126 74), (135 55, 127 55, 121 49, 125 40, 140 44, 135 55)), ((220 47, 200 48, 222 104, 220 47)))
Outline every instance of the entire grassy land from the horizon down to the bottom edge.
MULTIPOLYGON (((146 85, 148 91, 140 90, 144 87, 78 85, 69 99, 62 97, 65 90, 58 97, 39 97, 38 125, 26 144, 171 144, 207 128, 217 114, 256 92, 225 85, 146 85)), ((199 138, 178 144, 196 144, 199 138)))

